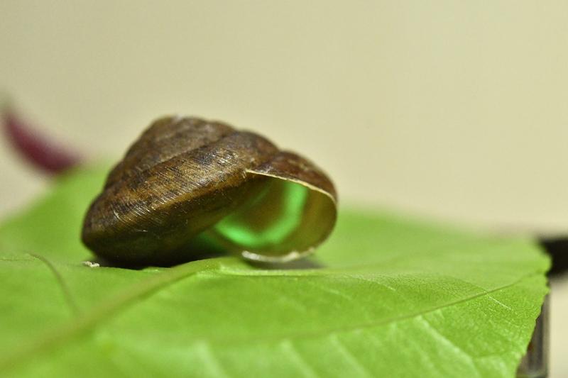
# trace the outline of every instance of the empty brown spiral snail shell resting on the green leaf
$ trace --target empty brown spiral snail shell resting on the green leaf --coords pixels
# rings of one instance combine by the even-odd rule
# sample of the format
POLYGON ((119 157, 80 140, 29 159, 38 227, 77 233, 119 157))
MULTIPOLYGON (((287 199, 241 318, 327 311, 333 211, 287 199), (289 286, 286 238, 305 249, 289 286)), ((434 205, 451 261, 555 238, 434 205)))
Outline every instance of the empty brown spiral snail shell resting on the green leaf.
POLYGON ((337 194, 309 160, 256 133, 164 117, 111 169, 82 240, 117 265, 174 265, 211 250, 288 262, 331 233, 337 194))

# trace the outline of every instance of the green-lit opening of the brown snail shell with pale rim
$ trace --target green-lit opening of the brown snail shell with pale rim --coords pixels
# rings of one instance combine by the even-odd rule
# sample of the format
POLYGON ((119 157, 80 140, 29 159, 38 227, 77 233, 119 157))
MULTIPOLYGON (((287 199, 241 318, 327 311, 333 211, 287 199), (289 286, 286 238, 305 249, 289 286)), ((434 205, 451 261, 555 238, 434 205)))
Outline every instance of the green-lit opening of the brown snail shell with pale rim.
POLYGON ((285 262, 307 255, 331 232, 334 201, 305 184, 253 174, 263 190, 217 223, 214 239, 249 260, 285 262))

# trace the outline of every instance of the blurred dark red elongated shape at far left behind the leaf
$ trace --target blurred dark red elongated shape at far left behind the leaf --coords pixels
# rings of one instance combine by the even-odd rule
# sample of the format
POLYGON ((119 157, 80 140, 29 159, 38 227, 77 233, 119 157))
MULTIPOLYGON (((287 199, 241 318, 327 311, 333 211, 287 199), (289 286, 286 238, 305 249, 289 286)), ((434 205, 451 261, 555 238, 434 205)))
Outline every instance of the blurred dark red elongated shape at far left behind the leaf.
POLYGON ((50 174, 59 174, 80 164, 80 154, 40 135, 9 106, 2 109, 2 118, 11 145, 33 166, 50 174))

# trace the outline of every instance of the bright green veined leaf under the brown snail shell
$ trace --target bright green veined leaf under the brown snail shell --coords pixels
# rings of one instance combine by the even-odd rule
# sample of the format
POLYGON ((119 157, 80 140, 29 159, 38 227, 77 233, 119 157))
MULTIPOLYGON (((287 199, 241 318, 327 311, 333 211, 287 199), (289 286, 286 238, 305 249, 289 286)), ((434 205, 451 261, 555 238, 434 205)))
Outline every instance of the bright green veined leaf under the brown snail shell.
POLYGON ((88 267, 105 172, 1 226, 1 376, 513 377, 547 292, 530 240, 344 209, 312 269, 88 267))

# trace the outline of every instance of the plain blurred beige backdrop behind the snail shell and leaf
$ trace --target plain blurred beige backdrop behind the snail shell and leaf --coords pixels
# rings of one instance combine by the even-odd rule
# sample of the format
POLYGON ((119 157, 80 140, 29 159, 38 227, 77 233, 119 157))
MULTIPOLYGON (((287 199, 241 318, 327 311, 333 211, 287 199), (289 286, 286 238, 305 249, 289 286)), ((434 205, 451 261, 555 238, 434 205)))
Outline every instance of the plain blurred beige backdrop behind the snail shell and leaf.
MULTIPOLYGON (((0 14, 0 93, 89 155, 118 157, 165 113, 219 118, 315 160, 344 203, 568 232, 565 1, 3 0, 0 14)), ((4 140, 0 169, 0 214, 47 184, 4 140)), ((552 299, 563 377, 566 282, 552 299)))

